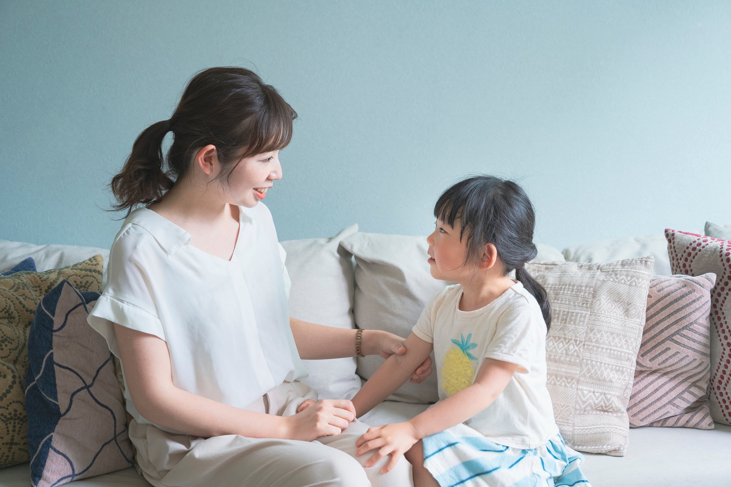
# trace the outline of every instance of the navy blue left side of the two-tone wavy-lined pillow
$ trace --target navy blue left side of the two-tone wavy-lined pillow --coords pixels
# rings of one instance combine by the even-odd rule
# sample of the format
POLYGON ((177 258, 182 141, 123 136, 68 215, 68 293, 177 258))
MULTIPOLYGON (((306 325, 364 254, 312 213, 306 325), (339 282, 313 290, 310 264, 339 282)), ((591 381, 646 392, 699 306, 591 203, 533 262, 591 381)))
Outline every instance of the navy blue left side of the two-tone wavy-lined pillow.
MULTIPOLYGON (((44 440, 55 431, 58 421, 61 420, 62 412, 58 407, 58 391, 56 390, 56 371, 53 367, 53 316, 56 315, 56 304, 58 304, 65 285, 73 287, 69 280, 64 279, 39 302, 28 335, 26 412, 29 418, 28 446, 29 451, 32 452, 31 480, 33 485, 38 485, 41 480, 46 459, 48 459, 51 442, 44 442, 44 440)), ((85 304, 96 301, 101 295, 92 291, 76 292, 82 296, 85 304)))

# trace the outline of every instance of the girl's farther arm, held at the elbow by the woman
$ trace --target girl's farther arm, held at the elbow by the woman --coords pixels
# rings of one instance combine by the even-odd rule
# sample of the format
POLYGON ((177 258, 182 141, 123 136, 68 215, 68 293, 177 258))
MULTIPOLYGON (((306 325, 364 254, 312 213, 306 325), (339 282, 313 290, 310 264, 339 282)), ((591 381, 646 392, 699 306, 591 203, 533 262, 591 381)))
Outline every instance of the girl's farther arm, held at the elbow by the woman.
POLYGON ((379 367, 374 375, 363 384, 363 388, 352 399, 356 417, 360 417, 401 387, 419 365, 431 353, 432 344, 415 334, 409 334, 404 342, 406 353, 393 354, 379 367))

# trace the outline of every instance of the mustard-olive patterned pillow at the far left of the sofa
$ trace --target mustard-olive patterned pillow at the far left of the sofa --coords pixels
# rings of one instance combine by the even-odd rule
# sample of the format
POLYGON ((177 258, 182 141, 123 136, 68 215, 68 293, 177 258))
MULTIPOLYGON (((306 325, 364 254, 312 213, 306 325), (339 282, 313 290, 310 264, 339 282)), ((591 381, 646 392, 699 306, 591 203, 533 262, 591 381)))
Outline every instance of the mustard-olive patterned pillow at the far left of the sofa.
POLYGON ((102 291, 102 256, 62 269, 0 277, 0 468, 29 461, 25 381, 28 334, 38 303, 62 280, 102 291))

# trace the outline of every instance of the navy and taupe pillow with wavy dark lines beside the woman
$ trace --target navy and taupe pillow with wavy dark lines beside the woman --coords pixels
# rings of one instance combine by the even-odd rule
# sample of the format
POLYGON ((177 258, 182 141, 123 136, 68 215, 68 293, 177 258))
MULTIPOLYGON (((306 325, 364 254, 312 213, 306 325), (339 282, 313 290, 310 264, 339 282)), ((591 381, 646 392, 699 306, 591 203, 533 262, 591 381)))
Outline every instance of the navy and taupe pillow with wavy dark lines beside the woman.
POLYGON ((113 356, 86 323, 98 298, 64 280, 36 310, 26 375, 33 486, 60 486, 132 466, 113 356))

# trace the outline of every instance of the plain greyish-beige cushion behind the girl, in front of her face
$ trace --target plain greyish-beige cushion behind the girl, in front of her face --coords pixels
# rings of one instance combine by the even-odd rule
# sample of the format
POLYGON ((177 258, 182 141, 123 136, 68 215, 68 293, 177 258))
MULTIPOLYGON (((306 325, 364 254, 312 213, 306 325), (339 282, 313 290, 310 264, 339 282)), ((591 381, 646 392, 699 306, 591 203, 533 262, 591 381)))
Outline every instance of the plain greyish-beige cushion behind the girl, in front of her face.
MULTIPOLYGON (((361 329, 408 337, 428 300, 450 284, 431 277, 426 237, 358 232, 343 239, 341 247, 355 256, 355 323, 361 329)), ((537 247, 539 258, 563 260, 558 249, 537 247)), ((368 379, 382 363, 379 356, 359 358, 358 375, 368 379)), ((389 399, 416 404, 438 401, 436 374, 421 384, 405 383, 389 399)))

